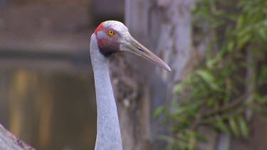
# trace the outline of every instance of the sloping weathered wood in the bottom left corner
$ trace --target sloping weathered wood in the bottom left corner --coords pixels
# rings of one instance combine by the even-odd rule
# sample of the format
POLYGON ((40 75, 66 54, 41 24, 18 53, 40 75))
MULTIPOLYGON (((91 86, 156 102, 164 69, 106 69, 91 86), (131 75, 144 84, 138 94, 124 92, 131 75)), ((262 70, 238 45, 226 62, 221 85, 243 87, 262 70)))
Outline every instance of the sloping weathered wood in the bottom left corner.
POLYGON ((0 124, 0 149, 35 150, 0 124))

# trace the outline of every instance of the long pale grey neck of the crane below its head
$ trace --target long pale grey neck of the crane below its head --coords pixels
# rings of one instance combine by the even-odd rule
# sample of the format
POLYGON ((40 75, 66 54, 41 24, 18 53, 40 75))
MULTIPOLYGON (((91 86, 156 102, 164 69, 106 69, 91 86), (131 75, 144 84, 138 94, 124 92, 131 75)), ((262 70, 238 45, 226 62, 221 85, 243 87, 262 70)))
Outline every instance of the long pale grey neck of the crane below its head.
POLYGON ((95 77, 98 112, 95 150, 122 150, 117 107, 108 72, 109 59, 100 53, 94 33, 90 41, 90 55, 95 77))

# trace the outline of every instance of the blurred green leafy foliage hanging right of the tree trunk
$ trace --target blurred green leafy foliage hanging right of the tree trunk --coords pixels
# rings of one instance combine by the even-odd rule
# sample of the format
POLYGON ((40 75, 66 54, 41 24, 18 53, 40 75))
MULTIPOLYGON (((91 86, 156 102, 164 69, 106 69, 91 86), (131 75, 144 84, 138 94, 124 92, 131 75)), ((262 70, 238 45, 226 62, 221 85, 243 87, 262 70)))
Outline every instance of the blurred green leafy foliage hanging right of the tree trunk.
POLYGON ((174 87, 172 109, 155 112, 171 133, 161 136, 169 149, 197 149, 206 141, 199 127, 246 138, 248 114, 267 106, 267 1, 200 0, 193 16, 210 43, 205 62, 174 87))

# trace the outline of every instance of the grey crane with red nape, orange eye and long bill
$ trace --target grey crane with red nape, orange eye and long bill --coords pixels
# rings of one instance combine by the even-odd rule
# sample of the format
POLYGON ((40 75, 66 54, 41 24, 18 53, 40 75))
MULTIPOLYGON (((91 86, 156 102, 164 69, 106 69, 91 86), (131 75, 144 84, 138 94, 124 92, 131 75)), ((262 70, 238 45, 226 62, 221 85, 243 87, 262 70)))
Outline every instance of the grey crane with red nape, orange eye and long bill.
POLYGON ((123 23, 119 21, 100 23, 90 41, 98 115, 95 150, 122 150, 117 106, 108 71, 109 58, 116 52, 134 53, 171 71, 157 55, 132 38, 123 23))

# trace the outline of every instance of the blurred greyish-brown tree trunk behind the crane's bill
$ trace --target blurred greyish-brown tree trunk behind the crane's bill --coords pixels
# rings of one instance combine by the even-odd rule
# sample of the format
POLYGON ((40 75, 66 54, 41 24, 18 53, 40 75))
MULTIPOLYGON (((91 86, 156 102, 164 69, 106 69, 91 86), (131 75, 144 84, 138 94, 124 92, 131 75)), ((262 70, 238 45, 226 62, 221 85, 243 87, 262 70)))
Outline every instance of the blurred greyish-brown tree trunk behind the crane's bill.
POLYGON ((132 36, 172 68, 168 73, 130 54, 126 54, 124 59, 117 57, 113 60, 112 81, 125 150, 163 149, 165 145, 158 136, 166 131, 153 112, 177 99, 172 93, 173 86, 204 56, 203 45, 197 48, 192 45, 191 10, 194 2, 125 2, 125 24, 132 36), (120 71, 114 68, 120 68, 120 71))

